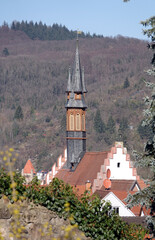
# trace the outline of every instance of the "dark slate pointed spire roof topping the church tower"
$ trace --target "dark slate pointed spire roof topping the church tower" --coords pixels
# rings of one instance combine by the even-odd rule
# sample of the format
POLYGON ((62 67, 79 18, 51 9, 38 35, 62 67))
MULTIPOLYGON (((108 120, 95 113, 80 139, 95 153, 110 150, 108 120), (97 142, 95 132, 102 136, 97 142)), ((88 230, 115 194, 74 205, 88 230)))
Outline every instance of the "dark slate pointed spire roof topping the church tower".
POLYGON ((87 108, 85 104, 84 95, 86 93, 84 81, 84 68, 81 70, 78 39, 76 42, 75 61, 73 70, 69 68, 67 93, 70 93, 70 98, 67 101, 66 108, 87 108), (81 94, 81 99, 75 100, 75 94, 81 94))

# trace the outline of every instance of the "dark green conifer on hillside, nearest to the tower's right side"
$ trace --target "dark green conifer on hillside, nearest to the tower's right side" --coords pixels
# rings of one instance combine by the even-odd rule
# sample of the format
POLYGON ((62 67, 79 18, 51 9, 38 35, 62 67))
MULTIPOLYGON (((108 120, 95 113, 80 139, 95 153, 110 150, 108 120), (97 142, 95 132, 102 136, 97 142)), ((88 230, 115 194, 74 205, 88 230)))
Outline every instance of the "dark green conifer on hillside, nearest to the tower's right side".
POLYGON ((105 132, 105 124, 102 120, 100 110, 97 109, 95 117, 94 117, 94 129, 97 133, 104 133, 105 132))

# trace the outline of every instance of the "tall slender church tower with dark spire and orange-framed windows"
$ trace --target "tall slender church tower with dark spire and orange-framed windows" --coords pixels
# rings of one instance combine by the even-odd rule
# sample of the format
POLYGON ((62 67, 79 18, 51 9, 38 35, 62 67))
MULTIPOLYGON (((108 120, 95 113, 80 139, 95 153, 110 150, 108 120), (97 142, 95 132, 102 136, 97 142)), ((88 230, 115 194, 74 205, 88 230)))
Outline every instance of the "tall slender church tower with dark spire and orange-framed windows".
POLYGON ((69 68, 66 103, 66 142, 67 142, 67 169, 74 170, 86 152, 86 127, 84 68, 81 69, 76 40, 76 53, 73 69, 69 68))

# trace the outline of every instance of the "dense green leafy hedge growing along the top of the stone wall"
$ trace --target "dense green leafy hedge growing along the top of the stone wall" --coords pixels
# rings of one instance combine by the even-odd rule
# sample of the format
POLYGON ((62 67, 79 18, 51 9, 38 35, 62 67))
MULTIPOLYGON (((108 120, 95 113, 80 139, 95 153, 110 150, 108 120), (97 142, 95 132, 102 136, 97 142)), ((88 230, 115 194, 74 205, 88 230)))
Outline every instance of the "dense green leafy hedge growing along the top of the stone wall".
MULTIPOLYGON (((17 200, 24 196, 35 204, 40 204, 47 209, 56 212, 60 217, 67 219, 72 216, 71 224, 77 224, 87 237, 95 240, 103 239, 143 239, 145 230, 139 226, 129 226, 119 216, 112 213, 109 216, 111 206, 101 202, 97 196, 90 197, 84 194, 79 201, 69 184, 54 178, 49 186, 40 186, 36 178, 27 187, 23 185, 24 178, 15 173, 17 200), (66 211, 66 205, 68 210, 66 211)), ((6 195, 12 200, 13 189, 11 178, 6 171, 0 170, 0 197, 6 195)))

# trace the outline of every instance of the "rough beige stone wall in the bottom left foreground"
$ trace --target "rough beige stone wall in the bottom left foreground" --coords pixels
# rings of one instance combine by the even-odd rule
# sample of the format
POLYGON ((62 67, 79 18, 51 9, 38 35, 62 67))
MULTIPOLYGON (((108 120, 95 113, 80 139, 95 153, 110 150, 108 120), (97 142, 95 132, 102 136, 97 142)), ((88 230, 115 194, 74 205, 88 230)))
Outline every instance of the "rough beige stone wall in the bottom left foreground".
MULTIPOLYGON (((11 229, 11 222, 13 221, 13 216, 10 213, 9 202, 0 199, 0 232, 5 240, 14 240, 16 238, 9 237, 9 232, 11 229)), ((19 207, 19 203, 17 203, 19 207)), ((20 204, 20 223, 25 226, 24 234, 20 239, 27 240, 48 240, 52 239, 52 237, 57 238, 58 236, 64 236, 63 228, 69 226, 69 221, 65 221, 63 218, 57 216, 55 212, 48 210, 43 206, 36 206, 32 202, 24 202, 20 204), (45 231, 46 224, 52 225, 52 237, 41 236, 41 232, 45 231)), ((69 239, 77 239, 79 237, 81 240, 86 240, 84 234, 78 229, 74 229, 75 236, 69 239)), ((61 238, 65 239, 65 238, 61 238)))

